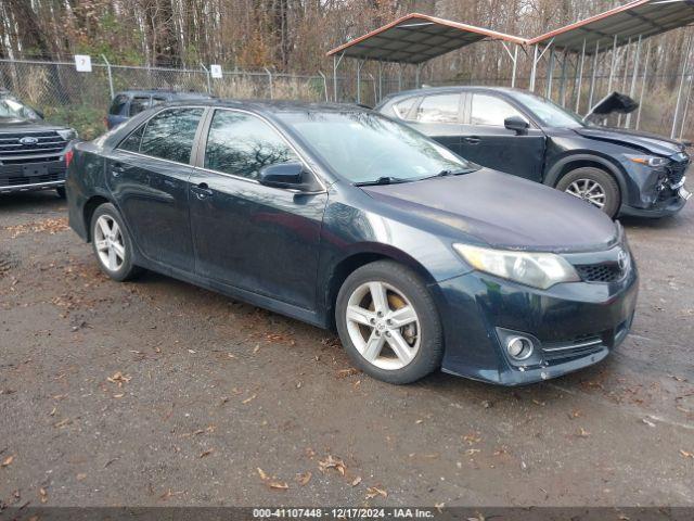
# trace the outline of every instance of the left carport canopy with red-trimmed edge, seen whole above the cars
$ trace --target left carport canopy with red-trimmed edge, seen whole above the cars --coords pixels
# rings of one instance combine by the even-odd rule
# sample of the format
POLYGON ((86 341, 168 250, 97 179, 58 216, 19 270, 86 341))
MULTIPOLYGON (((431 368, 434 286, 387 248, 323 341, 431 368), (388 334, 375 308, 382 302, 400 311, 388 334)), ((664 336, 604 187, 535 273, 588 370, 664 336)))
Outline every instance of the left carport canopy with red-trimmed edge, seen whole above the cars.
POLYGON ((527 40, 496 30, 411 13, 339 46, 327 55, 421 64, 481 40, 523 45, 527 40))

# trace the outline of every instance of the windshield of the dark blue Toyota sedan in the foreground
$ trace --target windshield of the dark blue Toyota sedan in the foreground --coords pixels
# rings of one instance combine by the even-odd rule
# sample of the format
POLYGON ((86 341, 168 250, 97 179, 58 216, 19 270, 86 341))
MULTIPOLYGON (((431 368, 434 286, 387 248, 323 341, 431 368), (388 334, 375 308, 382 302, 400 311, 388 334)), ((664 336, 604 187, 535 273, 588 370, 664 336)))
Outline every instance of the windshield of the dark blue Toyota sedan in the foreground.
POLYGON ((355 183, 412 181, 478 168, 399 123, 368 112, 278 114, 337 175, 355 183))

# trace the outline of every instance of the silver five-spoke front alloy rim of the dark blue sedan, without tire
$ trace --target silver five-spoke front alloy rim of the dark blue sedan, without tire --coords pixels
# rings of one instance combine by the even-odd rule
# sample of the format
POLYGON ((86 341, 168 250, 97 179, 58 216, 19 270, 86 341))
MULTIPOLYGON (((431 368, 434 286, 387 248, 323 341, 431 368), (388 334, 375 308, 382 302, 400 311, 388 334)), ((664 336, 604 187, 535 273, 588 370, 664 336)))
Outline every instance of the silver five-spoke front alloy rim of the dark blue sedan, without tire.
POLYGON ((371 281, 349 296, 347 331, 359 354, 386 370, 402 369, 416 356, 421 327, 414 306, 397 288, 371 281))

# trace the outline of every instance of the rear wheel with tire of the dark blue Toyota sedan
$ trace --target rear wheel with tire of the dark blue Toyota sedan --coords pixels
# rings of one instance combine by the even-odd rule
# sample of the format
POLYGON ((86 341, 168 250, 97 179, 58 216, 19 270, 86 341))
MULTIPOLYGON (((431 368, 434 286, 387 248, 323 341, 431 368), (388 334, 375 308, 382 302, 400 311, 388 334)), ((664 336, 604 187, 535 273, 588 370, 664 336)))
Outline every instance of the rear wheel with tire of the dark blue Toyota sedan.
POLYGON ((123 282, 140 275, 132 264, 132 240, 120 213, 111 203, 99 206, 91 218, 91 243, 101 270, 123 282))

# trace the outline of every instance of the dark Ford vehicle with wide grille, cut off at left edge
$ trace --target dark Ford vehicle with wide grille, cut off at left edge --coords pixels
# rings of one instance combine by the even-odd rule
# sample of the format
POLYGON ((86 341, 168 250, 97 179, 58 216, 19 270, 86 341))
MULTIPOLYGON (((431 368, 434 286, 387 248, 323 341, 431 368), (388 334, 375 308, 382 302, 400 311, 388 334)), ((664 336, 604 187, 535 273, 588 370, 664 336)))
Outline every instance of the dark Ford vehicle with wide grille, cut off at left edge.
POLYGON ((55 189, 65 196, 65 170, 77 132, 49 125, 40 112, 0 90, 0 193, 55 189))

